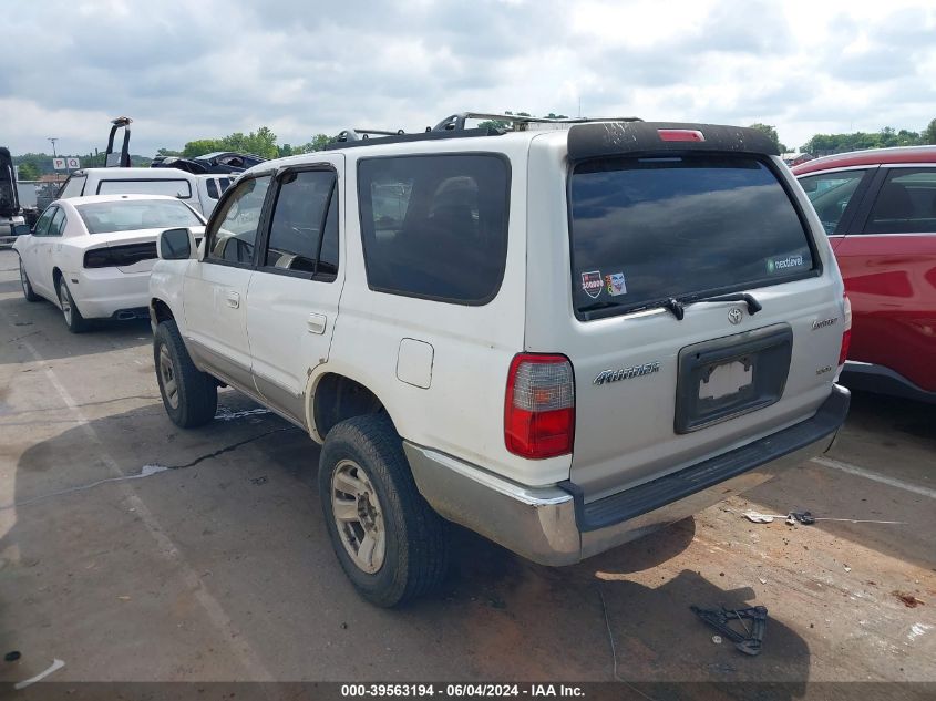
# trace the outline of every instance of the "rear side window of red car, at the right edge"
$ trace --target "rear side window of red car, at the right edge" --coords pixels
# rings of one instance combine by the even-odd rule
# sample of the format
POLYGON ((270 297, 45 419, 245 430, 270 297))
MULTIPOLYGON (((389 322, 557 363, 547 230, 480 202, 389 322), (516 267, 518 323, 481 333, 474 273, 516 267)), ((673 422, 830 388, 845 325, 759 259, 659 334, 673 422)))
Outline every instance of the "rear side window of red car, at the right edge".
POLYGON ((936 169, 892 169, 874 200, 864 233, 927 231, 936 231, 936 169))

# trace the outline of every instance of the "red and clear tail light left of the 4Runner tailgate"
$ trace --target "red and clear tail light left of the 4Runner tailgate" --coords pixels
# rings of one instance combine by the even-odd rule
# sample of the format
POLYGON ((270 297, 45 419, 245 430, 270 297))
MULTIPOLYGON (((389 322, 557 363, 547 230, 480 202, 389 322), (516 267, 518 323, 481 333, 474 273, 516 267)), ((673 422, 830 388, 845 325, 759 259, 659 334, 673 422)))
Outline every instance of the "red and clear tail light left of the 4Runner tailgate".
POLYGON ((572 453, 575 381, 565 355, 520 353, 507 373, 504 443, 522 457, 572 453))

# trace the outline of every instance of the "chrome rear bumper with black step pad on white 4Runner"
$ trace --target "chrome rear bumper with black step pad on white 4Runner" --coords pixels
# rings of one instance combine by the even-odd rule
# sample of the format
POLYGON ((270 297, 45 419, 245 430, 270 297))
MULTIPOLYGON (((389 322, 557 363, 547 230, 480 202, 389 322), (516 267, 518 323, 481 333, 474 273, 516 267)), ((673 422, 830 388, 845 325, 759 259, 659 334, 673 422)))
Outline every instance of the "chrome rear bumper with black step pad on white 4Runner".
POLYGON ((585 503, 572 483, 525 487, 449 455, 403 446, 443 517, 543 565, 572 565, 740 494, 831 446, 850 393, 833 385, 812 419, 675 474, 585 503))

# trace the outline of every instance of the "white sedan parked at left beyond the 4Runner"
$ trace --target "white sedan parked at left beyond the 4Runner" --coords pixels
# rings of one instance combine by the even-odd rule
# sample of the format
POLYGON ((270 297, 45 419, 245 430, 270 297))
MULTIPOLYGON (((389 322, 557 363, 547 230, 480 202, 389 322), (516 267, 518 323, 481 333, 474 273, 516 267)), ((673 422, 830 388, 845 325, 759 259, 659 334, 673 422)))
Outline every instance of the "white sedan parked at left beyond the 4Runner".
POLYGON ((29 301, 56 305, 73 333, 88 319, 146 317, 156 238, 187 227, 200 238, 205 219, 174 197, 95 195, 53 202, 13 248, 29 301))

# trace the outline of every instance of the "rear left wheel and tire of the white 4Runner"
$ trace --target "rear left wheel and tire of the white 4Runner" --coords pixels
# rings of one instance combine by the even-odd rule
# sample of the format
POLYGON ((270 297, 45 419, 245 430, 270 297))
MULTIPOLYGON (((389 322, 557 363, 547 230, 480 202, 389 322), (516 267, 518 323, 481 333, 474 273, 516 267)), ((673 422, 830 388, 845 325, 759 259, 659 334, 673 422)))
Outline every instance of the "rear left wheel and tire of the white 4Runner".
POLYGON ((419 493, 385 414, 356 416, 331 429, 318 480, 331 545, 364 599, 390 608, 442 583, 448 524, 419 493))

